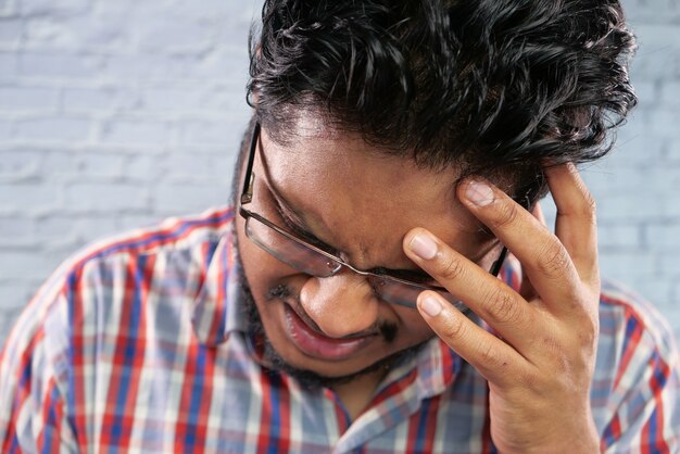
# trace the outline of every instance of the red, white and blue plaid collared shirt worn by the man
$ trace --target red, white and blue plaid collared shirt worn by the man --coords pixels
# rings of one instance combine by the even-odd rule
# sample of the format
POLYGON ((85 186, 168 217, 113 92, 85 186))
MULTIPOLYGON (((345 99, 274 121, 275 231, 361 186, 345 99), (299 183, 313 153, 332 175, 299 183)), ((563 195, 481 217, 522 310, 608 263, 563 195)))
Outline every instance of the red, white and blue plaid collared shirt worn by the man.
MULTIPOLYGON (((487 382, 439 339, 391 370, 355 420, 331 390, 266 370, 243 331, 232 227, 234 210, 215 210, 64 264, 0 356, 0 451, 495 452, 487 382)), ((610 286, 600 317, 602 450, 679 452, 669 330, 610 286)))

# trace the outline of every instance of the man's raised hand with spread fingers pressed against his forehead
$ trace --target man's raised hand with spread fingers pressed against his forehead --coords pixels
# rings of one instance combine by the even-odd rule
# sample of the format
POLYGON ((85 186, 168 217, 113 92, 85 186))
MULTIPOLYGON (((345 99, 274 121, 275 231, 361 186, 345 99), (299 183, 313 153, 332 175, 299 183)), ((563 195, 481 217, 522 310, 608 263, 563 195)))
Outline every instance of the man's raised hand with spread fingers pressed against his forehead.
POLYGON ((522 264, 521 294, 425 229, 406 254, 499 335, 436 292, 418 310, 489 382, 491 438, 507 453, 595 453, 590 386, 599 331, 594 203, 571 164, 545 171, 557 205, 555 235, 495 187, 467 181, 458 198, 522 264), (530 238, 531 241, 527 241, 530 238))

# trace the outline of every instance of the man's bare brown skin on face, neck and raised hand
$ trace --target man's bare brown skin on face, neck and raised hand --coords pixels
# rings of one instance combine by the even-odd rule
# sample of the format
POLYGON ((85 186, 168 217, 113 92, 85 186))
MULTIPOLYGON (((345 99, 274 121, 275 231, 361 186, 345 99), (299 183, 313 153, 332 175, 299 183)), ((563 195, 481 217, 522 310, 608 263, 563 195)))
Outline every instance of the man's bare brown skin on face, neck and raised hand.
MULTIPOLYGON (((547 173, 559 212, 553 235, 488 182, 491 201, 475 204, 467 182, 452 189, 454 169, 420 169, 358 137, 320 134, 313 122, 303 116, 297 140, 286 146, 263 129, 266 162, 262 155, 255 162, 251 209, 285 226, 279 194, 354 266, 426 270, 502 339, 432 292, 420 294, 416 311, 377 299, 365 278, 347 269, 324 279, 302 275, 250 241, 237 217, 245 279, 278 355, 295 368, 344 377, 439 336, 489 380, 491 431, 501 452, 563 452, 565 442, 569 452, 596 452, 588 400, 597 332, 596 241, 592 202, 576 172, 561 166, 547 173), (483 225, 522 263, 532 283, 522 286, 522 294, 488 274, 499 247, 483 225), (427 239, 431 256, 414 248, 427 239), (281 285, 289 294, 273 298, 281 285), (291 337, 291 312, 315 336, 364 341, 347 357, 310 353, 291 337), (385 324, 396 328, 393 338, 380 336, 377 327, 385 324)), ((385 374, 333 387, 351 415, 369 403, 385 374)))

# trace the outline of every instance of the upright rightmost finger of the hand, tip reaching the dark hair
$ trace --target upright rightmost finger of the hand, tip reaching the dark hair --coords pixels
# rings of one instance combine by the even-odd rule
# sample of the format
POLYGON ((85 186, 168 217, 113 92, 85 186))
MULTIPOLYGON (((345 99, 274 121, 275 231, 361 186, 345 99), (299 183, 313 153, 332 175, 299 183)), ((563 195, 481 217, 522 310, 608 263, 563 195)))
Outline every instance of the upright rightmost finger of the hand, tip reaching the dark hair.
POLYGON ((557 207, 555 234, 581 279, 599 287, 595 201, 574 164, 549 167, 545 176, 557 207))

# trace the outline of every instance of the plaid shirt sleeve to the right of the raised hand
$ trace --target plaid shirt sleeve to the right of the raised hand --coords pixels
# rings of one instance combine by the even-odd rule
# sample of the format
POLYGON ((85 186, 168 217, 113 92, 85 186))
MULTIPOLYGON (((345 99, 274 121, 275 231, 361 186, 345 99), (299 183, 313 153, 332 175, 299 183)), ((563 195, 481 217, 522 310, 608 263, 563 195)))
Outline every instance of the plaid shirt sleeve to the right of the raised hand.
POLYGON ((605 401, 600 412, 601 451, 680 453, 677 343, 657 312, 641 304, 619 303, 615 317, 601 317, 604 341, 597 362, 612 373, 605 380, 596 369, 593 380, 592 400, 605 401))

